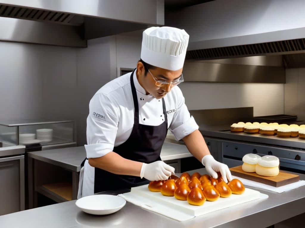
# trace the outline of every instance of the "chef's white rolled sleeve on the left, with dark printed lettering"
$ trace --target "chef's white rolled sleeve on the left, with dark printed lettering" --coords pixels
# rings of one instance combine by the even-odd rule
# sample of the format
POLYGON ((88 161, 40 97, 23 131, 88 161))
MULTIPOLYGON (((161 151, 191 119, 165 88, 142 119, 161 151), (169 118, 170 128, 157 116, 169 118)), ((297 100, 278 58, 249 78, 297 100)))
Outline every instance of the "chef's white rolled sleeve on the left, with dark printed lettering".
POLYGON ((87 158, 102 157, 113 150, 120 112, 105 94, 95 94, 87 118, 87 158))

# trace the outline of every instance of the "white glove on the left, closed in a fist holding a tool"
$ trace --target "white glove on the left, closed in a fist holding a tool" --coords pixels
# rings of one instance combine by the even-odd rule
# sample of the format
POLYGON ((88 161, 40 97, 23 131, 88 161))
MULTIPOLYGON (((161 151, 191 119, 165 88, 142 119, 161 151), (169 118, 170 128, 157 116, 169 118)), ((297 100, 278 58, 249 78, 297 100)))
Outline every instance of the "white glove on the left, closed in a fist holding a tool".
POLYGON ((175 168, 163 161, 155 161, 149 164, 143 163, 140 177, 149 181, 167 180, 175 172, 175 168))

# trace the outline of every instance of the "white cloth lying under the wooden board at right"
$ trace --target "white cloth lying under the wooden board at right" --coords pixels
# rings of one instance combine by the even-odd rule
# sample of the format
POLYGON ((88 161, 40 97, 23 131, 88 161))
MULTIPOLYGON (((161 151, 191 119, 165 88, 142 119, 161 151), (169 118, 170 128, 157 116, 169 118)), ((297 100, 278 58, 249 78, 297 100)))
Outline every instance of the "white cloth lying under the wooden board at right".
POLYGON ((297 181, 295 183, 291 183, 291 184, 288 184, 288 185, 283 185, 281 187, 274 187, 274 186, 262 184, 262 183, 259 183, 259 182, 256 182, 256 181, 250 181, 250 180, 247 180, 247 179, 244 179, 244 178, 241 178, 241 177, 232 176, 232 178, 239 179, 246 186, 261 188, 261 189, 265 189, 265 190, 269 190, 269 191, 277 192, 277 193, 287 192, 289 190, 299 188, 299 187, 305 185, 305 181, 297 181))

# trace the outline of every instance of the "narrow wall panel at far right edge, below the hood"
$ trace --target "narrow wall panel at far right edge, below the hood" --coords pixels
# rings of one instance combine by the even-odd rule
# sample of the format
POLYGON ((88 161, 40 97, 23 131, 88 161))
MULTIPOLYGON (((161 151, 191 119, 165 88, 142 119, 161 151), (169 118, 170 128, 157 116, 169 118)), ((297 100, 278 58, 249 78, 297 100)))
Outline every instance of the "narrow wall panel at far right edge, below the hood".
POLYGON ((305 68, 286 69, 284 86, 285 114, 297 115, 305 121, 305 68))

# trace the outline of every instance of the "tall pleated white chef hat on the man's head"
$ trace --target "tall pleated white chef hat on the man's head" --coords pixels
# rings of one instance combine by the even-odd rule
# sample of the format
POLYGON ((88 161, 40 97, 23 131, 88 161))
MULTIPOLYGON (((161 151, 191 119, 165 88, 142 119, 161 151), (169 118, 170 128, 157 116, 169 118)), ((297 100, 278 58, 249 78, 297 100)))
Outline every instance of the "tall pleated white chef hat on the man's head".
POLYGON ((150 27, 143 32, 141 59, 156 67, 179 70, 183 67, 188 37, 184 29, 150 27))

